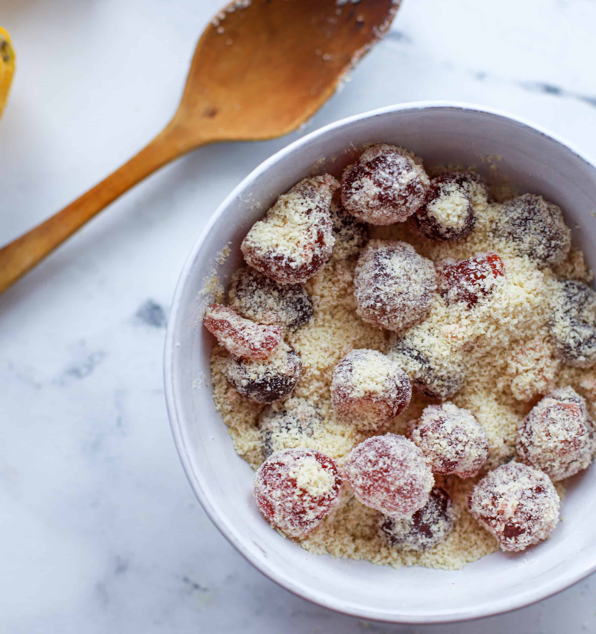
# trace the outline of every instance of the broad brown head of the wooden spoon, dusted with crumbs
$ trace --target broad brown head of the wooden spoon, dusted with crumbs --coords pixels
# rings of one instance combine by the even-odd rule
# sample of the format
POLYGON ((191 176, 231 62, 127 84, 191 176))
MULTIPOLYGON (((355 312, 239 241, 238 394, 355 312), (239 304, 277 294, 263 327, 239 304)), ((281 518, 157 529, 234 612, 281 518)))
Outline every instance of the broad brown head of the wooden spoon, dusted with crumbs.
POLYGON ((197 44, 172 124, 190 149, 294 130, 389 29, 399 0, 236 0, 197 44), (248 5, 248 6, 245 6, 248 5))

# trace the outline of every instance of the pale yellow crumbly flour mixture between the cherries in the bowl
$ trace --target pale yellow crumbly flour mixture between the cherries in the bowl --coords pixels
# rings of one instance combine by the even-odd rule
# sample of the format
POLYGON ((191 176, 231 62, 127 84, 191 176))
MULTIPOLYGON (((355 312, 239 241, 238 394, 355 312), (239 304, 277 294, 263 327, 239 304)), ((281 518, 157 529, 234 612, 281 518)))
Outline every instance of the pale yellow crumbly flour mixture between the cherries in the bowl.
MULTIPOLYGON (((496 198, 496 197, 495 197, 496 198)), ((501 197, 498 197, 501 200, 501 197)), ((511 246, 498 242, 489 226, 500 203, 481 204, 472 233, 458 242, 434 242, 420 235, 411 224, 371 226, 371 238, 403 240, 432 261, 462 260, 479 253, 498 253, 505 275, 486 302, 472 309, 461 302, 446 306, 436 292, 428 318, 410 328, 408 335, 425 345, 442 349, 446 358, 465 370, 463 388, 451 400, 470 410, 483 425, 489 441, 486 468, 507 462, 515 453, 517 423, 541 395, 567 385, 585 396, 590 413, 596 405, 596 370, 560 365, 547 333, 548 297, 555 276, 590 281, 583 254, 571 249, 566 261, 554 269, 538 268, 525 257, 517 257, 511 246)), ((335 365, 352 349, 386 351, 389 333, 368 325, 356 314, 353 259, 335 253, 305 284, 313 301, 313 316, 304 326, 288 333, 287 341, 302 359, 302 375, 293 398, 308 399, 318 408, 322 425, 314 427, 309 445, 332 456, 339 465, 356 444, 368 435, 334 420, 329 387, 335 365)), ((241 456, 257 469, 263 460, 261 432, 257 420, 263 406, 244 398, 224 374, 226 351, 216 346, 212 354, 212 385, 217 410, 230 430, 241 456)), ((389 431, 403 434, 410 420, 420 417, 428 399, 414 394, 410 405, 394 419, 389 431)), ((274 405, 282 408, 282 404, 274 405)), ((481 475, 483 475, 481 473, 481 475)), ((314 553, 334 557, 367 559, 375 564, 426 566, 457 569, 498 550, 498 545, 467 511, 467 495, 481 477, 463 481, 457 476, 436 476, 437 486, 446 489, 455 503, 458 520, 446 541, 424 552, 390 548, 379 535, 379 512, 363 506, 345 486, 342 501, 312 533, 297 540, 314 553)), ((558 487, 559 493, 564 489, 558 487)))

